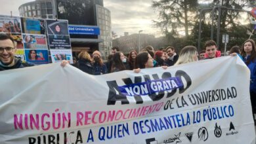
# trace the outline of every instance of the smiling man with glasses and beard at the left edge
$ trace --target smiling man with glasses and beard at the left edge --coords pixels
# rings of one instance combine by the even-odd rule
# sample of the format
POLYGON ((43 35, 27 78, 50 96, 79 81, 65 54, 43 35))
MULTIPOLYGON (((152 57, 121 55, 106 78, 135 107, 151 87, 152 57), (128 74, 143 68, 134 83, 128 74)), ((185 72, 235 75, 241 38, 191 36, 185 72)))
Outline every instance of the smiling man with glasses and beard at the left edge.
POLYGON ((0 71, 18 69, 35 65, 30 62, 22 62, 15 57, 16 46, 12 37, 6 33, 0 33, 0 71))

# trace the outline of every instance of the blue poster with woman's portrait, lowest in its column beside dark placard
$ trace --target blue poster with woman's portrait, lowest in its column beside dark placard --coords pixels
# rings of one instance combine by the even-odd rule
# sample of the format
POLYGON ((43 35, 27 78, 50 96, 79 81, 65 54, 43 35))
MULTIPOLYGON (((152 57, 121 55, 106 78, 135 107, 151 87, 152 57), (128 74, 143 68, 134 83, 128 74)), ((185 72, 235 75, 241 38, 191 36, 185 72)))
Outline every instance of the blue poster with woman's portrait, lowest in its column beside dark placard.
POLYGON ((46 64, 48 60, 48 50, 28 50, 25 49, 26 61, 35 64, 46 64))

